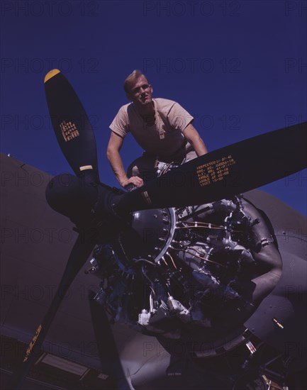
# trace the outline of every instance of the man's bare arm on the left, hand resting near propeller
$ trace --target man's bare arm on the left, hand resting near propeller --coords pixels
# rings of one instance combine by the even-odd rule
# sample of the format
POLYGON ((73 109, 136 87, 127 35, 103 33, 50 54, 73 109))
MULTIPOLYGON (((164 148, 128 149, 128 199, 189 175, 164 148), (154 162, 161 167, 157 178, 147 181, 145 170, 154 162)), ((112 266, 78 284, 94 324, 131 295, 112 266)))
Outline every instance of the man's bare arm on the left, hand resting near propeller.
POLYGON ((112 131, 110 140, 108 141, 106 157, 108 157, 108 161, 110 162, 116 179, 118 179, 118 183, 123 187, 128 184, 134 184, 137 187, 143 186, 143 179, 140 179, 138 176, 130 177, 130 179, 128 179, 125 169, 123 169, 123 162, 119 154, 122 145, 123 138, 112 131))

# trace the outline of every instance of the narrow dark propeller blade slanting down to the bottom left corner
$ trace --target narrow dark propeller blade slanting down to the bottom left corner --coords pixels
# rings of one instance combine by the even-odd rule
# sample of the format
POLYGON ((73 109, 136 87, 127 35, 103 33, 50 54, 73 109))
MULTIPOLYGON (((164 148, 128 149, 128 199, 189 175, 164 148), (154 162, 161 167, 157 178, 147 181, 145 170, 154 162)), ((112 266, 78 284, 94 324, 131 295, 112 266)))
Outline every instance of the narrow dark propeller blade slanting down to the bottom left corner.
POLYGON ((9 383, 9 389, 20 389, 23 379, 26 377, 35 359, 38 357, 35 352, 37 352, 37 348, 40 348, 40 346, 43 344, 45 336, 48 333, 53 318, 55 318, 57 309, 62 303, 62 299, 64 298, 65 293, 72 284, 74 277, 76 277, 77 273, 88 259, 94 246, 94 239, 89 233, 85 232, 84 235, 78 236, 76 242, 74 243, 74 247, 72 247, 72 252, 69 255, 65 272, 62 276, 61 282, 57 288, 48 312, 46 313, 42 323, 38 326, 33 339, 28 345, 28 349, 26 350, 26 355, 23 358, 21 366, 13 374, 13 377, 9 383))

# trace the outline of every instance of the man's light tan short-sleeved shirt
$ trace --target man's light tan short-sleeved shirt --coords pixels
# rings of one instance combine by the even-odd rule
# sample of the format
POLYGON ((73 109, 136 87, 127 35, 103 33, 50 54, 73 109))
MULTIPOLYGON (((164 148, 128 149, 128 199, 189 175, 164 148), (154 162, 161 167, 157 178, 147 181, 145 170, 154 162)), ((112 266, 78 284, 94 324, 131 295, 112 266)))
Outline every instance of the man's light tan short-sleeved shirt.
POLYGON ((133 103, 122 106, 110 125, 113 133, 124 138, 129 132, 140 147, 150 155, 171 157, 193 150, 184 138, 184 129, 193 121, 176 101, 152 99, 155 106, 155 123, 147 124, 133 103))

